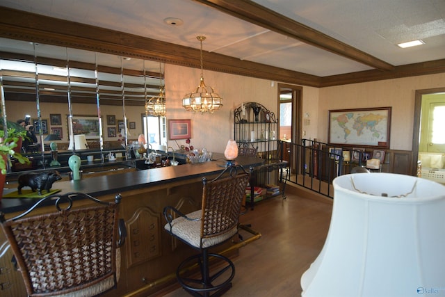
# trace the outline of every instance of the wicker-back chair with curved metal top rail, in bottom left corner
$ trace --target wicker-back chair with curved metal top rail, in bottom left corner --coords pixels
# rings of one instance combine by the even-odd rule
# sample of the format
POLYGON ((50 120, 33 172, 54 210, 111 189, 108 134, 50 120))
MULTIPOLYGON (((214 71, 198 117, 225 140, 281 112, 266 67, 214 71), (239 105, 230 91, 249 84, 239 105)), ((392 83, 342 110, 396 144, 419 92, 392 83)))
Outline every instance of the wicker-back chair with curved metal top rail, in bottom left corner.
POLYGON ((51 195, 1 227, 10 243, 28 296, 96 296, 115 288, 120 270, 118 205, 83 193, 51 195), (74 208, 78 199, 95 202, 74 208), (56 211, 29 216, 39 205, 56 211))

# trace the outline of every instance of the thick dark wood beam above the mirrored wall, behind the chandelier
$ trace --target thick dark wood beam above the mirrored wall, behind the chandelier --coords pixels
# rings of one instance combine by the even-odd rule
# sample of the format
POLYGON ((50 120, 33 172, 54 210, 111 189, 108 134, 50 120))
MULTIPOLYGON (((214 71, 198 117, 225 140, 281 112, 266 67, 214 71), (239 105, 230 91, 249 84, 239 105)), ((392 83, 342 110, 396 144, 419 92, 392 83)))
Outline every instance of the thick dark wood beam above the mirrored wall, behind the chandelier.
MULTIPOLYGON (((200 68, 200 49, 10 8, 0 9, 0 37, 200 68)), ((320 77, 312 74, 208 51, 203 54, 206 70, 305 86, 319 85, 320 77)))

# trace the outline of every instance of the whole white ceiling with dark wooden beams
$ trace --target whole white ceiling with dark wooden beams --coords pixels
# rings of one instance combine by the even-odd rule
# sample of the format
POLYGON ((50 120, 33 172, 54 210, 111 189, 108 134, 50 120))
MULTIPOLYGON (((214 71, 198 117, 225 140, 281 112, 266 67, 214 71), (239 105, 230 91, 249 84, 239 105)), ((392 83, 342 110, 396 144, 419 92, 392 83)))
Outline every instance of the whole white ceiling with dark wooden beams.
POLYGON ((442 0, 0 0, 0 37, 304 86, 445 71, 442 0), (167 18, 183 24, 166 24, 167 18), (421 38, 425 45, 396 43, 421 38))

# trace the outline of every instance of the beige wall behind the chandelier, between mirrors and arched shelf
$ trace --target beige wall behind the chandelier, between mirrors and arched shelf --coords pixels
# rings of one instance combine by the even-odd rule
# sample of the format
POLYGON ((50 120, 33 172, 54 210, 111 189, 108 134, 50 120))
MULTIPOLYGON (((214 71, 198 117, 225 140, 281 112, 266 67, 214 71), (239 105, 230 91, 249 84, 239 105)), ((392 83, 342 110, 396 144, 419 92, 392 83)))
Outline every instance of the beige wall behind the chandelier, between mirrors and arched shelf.
MULTIPOLYGON (((205 61, 204 61, 205 63, 205 61)), ((277 113, 277 83, 241 77, 234 74, 204 70, 204 82, 213 86, 223 97, 223 108, 216 113, 192 113, 182 107, 182 97, 200 82, 200 70, 176 65, 165 65, 165 102, 168 119, 191 119, 194 147, 206 147, 211 152, 224 152, 229 139, 234 138, 234 109, 243 102, 259 102, 277 113)), ((185 141, 177 141, 185 145, 185 141)), ((178 148, 175 141, 168 145, 178 148)))

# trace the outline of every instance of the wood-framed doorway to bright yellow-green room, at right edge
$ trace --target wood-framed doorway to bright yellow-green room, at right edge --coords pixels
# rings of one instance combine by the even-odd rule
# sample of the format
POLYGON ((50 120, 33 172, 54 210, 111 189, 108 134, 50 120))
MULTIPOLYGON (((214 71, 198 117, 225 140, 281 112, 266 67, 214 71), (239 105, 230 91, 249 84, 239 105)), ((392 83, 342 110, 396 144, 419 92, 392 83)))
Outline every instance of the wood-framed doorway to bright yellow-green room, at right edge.
POLYGON ((436 120, 434 120, 435 118, 433 117, 435 112, 443 112, 445 107, 442 106, 445 106, 445 88, 416 90, 412 141, 412 175, 414 176, 417 175, 419 152, 432 152, 434 150, 436 153, 445 153, 444 146, 439 145, 439 143, 444 141, 442 129, 434 128, 437 127, 438 121, 436 122, 436 120, 441 120, 441 118, 436 115, 436 120), (436 133, 433 140, 434 131, 439 131, 440 134, 436 133))

